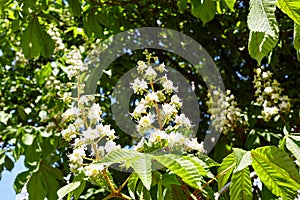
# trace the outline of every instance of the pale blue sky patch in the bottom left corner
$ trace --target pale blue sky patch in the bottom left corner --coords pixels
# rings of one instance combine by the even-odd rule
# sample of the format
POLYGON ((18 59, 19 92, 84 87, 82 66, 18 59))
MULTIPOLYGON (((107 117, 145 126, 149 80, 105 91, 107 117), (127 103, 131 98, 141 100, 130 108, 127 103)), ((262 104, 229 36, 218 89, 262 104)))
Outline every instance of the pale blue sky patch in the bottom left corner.
POLYGON ((24 157, 21 157, 16 163, 11 172, 4 170, 2 172, 2 179, 0 180, 0 196, 1 200, 15 200, 16 193, 13 188, 16 176, 25 171, 24 157))

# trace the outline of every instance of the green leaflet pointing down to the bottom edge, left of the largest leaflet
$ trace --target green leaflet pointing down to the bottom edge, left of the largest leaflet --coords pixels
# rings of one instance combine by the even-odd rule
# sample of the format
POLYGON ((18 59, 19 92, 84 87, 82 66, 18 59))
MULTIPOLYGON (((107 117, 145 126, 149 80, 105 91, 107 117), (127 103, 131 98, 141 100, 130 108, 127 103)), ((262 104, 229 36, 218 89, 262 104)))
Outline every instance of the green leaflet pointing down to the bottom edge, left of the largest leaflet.
POLYGON ((230 199, 252 200, 252 182, 248 167, 233 173, 229 195, 230 199))

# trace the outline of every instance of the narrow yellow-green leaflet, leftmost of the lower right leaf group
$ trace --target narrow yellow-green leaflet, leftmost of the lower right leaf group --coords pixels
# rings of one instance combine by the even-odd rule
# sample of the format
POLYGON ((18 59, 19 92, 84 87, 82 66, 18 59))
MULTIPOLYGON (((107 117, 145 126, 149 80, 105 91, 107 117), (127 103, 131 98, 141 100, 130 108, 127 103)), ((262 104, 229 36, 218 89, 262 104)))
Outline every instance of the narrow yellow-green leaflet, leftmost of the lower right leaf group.
POLYGON ((236 161, 233 153, 229 154, 227 157, 224 158, 223 162, 221 163, 221 166, 218 168, 218 174, 220 175, 220 177, 218 178, 219 191, 227 183, 235 165, 236 161))

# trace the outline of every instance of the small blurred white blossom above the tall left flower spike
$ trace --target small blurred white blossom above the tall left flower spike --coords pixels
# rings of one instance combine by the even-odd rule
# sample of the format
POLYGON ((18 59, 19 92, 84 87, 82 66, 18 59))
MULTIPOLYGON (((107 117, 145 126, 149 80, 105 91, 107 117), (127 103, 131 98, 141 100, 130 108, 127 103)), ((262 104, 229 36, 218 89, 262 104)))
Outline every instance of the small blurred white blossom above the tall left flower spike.
POLYGON ((80 51, 76 47, 73 46, 72 49, 68 51, 66 58, 66 63, 68 64, 66 73, 69 79, 87 70, 87 67, 82 62, 80 51))

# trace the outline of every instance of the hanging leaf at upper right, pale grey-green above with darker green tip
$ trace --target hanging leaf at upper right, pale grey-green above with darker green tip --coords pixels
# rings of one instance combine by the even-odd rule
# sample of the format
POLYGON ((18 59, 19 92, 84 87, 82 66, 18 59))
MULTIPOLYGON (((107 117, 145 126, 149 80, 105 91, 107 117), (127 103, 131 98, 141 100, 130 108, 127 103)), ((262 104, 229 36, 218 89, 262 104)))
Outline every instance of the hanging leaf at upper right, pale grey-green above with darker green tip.
POLYGON ((248 50, 258 63, 277 44, 278 24, 275 18, 276 0, 250 0, 248 50))

